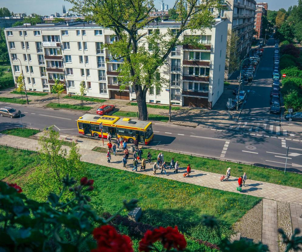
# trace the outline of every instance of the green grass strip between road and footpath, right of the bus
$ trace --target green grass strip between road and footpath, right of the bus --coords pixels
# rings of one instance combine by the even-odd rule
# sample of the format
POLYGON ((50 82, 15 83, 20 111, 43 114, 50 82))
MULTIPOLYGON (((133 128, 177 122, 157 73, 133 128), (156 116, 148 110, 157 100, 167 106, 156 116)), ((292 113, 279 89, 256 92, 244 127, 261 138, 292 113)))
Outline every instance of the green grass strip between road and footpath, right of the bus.
MULTIPOLYGON (((157 151, 154 149, 145 149, 144 157, 147 157, 148 151, 152 155, 153 161, 156 160, 159 152, 163 152, 166 163, 170 164, 172 157, 175 162, 178 161, 179 166, 186 168, 188 164, 191 168, 196 170, 209 171, 213 173, 225 174, 228 167, 231 167, 231 175, 235 177, 242 176, 244 172, 247 174, 247 183, 249 179, 269 182, 273 184, 280 184, 285 186, 302 188, 302 175, 297 173, 285 173, 284 171, 261 168, 256 166, 249 166, 244 164, 237 164, 232 162, 224 162, 201 157, 194 157, 185 154, 178 154, 166 151, 157 151)), ((218 178, 217 178, 218 179, 218 178)))

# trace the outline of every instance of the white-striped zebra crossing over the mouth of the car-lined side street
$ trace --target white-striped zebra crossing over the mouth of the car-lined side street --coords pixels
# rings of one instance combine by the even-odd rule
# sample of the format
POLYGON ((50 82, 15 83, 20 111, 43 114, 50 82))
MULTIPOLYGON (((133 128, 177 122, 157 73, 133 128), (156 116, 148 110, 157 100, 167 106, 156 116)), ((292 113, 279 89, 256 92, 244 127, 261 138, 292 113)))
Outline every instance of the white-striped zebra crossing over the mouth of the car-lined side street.
POLYGON ((256 132, 261 134, 274 134, 279 136, 295 136, 294 134, 287 134, 287 130, 283 130, 278 125, 273 124, 260 124, 260 123, 249 123, 248 122, 238 122, 236 125, 230 125, 229 129, 235 129, 239 131, 256 132))

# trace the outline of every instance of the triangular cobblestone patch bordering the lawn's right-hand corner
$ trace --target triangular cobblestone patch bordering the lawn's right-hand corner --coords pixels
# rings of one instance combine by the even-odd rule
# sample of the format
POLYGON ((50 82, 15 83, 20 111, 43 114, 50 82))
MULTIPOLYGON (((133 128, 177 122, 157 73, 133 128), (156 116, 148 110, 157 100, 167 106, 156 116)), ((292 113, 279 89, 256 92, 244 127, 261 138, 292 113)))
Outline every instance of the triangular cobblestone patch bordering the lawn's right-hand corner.
POLYGON ((258 243, 262 237, 262 201, 250 209, 233 225, 233 229, 241 234, 241 238, 258 243))

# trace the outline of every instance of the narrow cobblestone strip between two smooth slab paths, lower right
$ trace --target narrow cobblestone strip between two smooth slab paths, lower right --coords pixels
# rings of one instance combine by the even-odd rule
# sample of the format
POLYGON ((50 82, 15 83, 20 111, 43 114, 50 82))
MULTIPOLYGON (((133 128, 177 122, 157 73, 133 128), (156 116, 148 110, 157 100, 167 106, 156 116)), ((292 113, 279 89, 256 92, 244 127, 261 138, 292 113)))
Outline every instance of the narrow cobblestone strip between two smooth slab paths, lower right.
MULTIPOLYGON (((287 237, 292 236, 292 224, 290 218, 290 206, 288 203, 285 202, 277 202, 278 207, 278 228, 282 228, 283 231, 286 233, 287 237)), ((278 233, 278 244, 279 244, 279 251, 285 252, 286 244, 282 243, 282 237, 278 233)))

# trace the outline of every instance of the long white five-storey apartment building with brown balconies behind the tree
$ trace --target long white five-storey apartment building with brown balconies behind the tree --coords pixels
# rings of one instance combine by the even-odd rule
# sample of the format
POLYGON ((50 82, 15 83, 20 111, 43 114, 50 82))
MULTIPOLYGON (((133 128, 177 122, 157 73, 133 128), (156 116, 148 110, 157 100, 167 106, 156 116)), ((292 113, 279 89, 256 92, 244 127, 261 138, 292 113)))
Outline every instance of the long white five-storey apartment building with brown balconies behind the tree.
MULTIPOLYGON (((191 45, 177 46, 160 68, 160 74, 170 77, 171 88, 163 86, 149 90, 147 103, 212 108, 223 93, 227 23, 216 19, 212 29, 199 34, 205 48, 191 45), (170 76, 169 76, 170 75, 170 76)), ((166 33, 177 29, 179 23, 152 23, 141 32, 151 34, 154 29, 166 33)), ((198 35, 186 31, 184 36, 198 35)), ((14 79, 23 70, 26 90, 50 92, 54 79, 60 79, 65 93, 79 93, 85 81, 87 96, 136 100, 132 87, 119 90, 118 66, 101 44, 112 43, 112 30, 93 23, 60 22, 24 24, 5 29, 14 79), (21 65, 20 65, 21 62, 21 65)), ((146 35, 148 36, 148 35, 146 35)))

